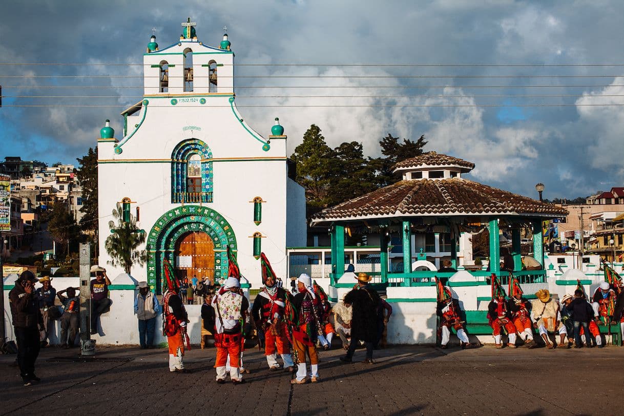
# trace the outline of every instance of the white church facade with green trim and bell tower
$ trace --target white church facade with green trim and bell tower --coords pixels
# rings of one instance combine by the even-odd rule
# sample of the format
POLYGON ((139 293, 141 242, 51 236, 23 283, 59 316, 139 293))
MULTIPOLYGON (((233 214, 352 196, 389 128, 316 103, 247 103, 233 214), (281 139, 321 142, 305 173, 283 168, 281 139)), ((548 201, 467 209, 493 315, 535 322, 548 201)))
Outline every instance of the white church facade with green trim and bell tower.
MULTIPOLYGON (((227 247, 241 274, 261 285, 260 251, 286 279, 286 246, 306 242, 305 193, 289 177, 286 135, 279 122, 263 137, 236 109, 234 53, 200 42, 195 24, 144 53, 144 97, 122 113, 123 136, 106 126, 98 140, 99 264, 117 203, 147 233, 147 263, 132 277, 162 291, 162 262, 180 276, 227 276, 227 247)), ((273 123, 271 123, 272 125, 273 123)), ((267 126, 267 130, 270 125, 267 126)), ((292 173, 292 172, 291 172, 292 173)))

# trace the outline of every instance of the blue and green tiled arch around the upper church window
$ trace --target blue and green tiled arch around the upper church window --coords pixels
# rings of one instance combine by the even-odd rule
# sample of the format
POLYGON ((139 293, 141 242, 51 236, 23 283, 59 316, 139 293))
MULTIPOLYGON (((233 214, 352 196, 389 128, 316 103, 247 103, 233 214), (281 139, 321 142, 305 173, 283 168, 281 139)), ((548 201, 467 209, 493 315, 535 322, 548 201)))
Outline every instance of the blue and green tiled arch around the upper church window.
POLYGON ((203 203, 212 202, 213 190, 213 170, 212 170, 212 150, 202 140, 190 138, 183 140, 173 149, 171 154, 171 201, 178 203, 182 201, 199 202, 196 198, 189 200, 187 194, 187 163, 192 155, 202 157, 202 192, 201 201, 203 203))

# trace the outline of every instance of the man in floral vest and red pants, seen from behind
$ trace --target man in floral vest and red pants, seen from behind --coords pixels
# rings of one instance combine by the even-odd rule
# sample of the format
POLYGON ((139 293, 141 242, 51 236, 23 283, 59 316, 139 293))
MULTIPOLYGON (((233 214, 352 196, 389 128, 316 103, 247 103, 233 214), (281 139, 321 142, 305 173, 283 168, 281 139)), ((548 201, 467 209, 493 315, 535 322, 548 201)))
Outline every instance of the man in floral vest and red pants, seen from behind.
POLYGON ((236 278, 228 278, 212 301, 215 309, 215 347, 217 347, 217 383, 225 383, 225 364, 230 357, 230 379, 233 384, 245 382, 240 373, 240 351, 243 338, 242 322, 249 309, 249 301, 245 296, 236 293, 240 282, 236 278))

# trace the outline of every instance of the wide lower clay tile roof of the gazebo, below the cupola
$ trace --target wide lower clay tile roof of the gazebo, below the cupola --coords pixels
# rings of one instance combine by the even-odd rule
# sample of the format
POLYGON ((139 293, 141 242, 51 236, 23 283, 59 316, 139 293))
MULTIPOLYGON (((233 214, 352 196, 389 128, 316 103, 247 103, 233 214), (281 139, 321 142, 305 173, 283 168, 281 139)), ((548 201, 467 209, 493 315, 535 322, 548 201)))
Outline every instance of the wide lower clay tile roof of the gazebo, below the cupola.
POLYGON ((399 181, 326 208, 312 217, 312 223, 411 215, 535 215, 557 218, 567 214, 567 210, 554 204, 462 178, 447 178, 399 181))

